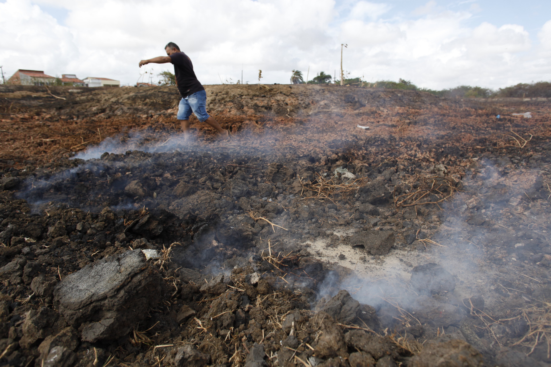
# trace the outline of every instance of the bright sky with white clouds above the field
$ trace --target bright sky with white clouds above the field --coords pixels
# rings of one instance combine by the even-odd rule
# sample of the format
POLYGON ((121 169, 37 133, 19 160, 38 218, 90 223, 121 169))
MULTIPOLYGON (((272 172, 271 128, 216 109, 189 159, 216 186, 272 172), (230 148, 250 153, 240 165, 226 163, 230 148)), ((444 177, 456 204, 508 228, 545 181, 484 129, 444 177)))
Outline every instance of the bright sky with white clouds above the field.
MULTIPOLYGON (((176 42, 203 84, 289 83, 343 68, 367 81, 493 89, 551 80, 551 1, 0 0, 0 65, 136 84, 176 42)), ((338 73, 338 71, 337 71, 338 73)), ((338 74, 337 74, 338 75, 338 74)), ((147 81, 147 80, 144 80, 147 81)))

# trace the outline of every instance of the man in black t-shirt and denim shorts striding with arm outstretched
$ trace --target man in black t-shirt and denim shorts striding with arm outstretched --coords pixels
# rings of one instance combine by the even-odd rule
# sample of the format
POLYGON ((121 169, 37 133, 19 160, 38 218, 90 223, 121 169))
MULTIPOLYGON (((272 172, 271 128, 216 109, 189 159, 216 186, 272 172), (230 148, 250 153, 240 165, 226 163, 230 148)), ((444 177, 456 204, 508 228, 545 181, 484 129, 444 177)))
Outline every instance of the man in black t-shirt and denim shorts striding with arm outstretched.
POLYGON ((193 72, 193 65, 190 58, 180 51, 180 47, 174 42, 169 42, 165 46, 165 51, 168 56, 154 57, 149 60, 139 62, 139 67, 142 65, 155 63, 165 64, 172 63, 174 65, 174 75, 176 76, 176 86, 180 91, 182 99, 178 106, 177 119, 181 120, 183 134, 187 137, 190 133, 190 115, 195 113, 195 116, 201 122, 206 122, 218 132, 228 138, 230 132, 220 127, 220 124, 214 117, 207 113, 207 93, 193 72))

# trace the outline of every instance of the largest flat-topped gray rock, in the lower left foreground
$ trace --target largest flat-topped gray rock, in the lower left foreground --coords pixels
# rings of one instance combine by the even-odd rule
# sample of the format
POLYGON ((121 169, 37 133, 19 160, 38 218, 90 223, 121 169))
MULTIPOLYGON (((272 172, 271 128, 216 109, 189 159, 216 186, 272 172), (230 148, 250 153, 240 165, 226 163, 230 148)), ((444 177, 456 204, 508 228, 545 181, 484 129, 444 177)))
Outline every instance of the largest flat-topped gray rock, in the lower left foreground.
POLYGON ((147 316, 159 297, 162 279, 142 251, 95 261, 69 274, 53 291, 54 304, 67 323, 82 330, 84 341, 126 335, 147 316))

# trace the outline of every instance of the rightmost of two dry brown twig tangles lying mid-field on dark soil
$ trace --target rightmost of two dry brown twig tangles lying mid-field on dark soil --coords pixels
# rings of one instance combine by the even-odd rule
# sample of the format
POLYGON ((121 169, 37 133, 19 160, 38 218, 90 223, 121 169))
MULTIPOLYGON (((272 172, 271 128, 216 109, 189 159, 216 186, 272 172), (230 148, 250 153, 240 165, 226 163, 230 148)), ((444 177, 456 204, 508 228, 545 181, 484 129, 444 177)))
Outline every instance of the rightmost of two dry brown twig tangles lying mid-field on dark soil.
POLYGON ((396 195, 397 187, 395 187, 393 196, 396 207, 438 204, 451 198, 456 191, 460 191, 453 177, 417 175, 414 179, 403 183, 408 185, 409 189, 406 190, 406 194, 396 195))

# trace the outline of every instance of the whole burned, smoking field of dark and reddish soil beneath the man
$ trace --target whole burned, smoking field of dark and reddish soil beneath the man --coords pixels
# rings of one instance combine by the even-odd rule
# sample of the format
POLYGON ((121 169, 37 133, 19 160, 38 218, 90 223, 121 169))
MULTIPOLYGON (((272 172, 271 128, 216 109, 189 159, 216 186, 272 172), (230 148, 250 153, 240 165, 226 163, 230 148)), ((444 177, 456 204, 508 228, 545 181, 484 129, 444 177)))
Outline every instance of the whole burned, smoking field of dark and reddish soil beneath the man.
POLYGON ((547 100, 1 92, 1 363, 551 361, 547 100))

